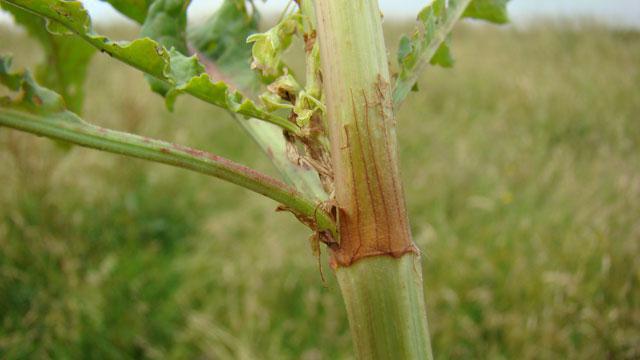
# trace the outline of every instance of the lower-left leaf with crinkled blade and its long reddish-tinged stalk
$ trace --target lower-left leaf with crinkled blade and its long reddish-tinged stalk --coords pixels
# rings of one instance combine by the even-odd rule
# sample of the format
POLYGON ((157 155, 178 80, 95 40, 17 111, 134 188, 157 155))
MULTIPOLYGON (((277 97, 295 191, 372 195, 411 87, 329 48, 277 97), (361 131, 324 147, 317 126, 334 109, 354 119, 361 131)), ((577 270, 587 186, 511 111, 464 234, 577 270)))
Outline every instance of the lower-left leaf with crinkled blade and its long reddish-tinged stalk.
POLYGON ((0 83, 18 95, 0 98, 0 126, 116 154, 164 163, 214 176, 265 195, 314 230, 335 235, 335 223, 315 199, 281 181, 201 150, 91 125, 66 109, 60 95, 38 85, 29 72, 11 72, 0 57, 0 83))

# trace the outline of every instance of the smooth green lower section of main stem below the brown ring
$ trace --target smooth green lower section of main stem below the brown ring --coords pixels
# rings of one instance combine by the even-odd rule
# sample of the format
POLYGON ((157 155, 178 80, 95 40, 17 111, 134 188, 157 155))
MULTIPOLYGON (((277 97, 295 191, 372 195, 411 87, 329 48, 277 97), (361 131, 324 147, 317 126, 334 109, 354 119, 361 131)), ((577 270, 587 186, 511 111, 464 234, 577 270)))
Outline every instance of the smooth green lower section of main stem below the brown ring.
POLYGON ((431 357, 420 256, 370 257, 338 268, 336 275, 358 358, 431 357))

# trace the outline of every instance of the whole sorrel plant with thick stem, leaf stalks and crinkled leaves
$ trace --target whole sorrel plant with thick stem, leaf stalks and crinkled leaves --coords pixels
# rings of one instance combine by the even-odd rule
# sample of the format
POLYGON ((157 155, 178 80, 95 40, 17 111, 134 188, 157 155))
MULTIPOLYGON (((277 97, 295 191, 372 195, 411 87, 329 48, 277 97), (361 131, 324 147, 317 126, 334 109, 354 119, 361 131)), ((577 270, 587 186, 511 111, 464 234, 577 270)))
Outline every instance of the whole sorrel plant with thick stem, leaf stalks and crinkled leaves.
POLYGON ((451 66, 450 33, 464 17, 504 23, 506 0, 435 0, 417 16, 391 72, 375 0, 301 0, 258 32, 252 2, 225 0, 187 27, 189 0, 109 0, 141 24, 140 38, 96 33, 79 1, 2 0, 38 39, 33 76, 0 58, 0 125, 210 175, 276 201, 330 251, 361 359, 428 359, 420 252, 398 169, 395 111, 429 65, 451 66), (283 53, 299 37, 306 71, 283 53), (276 179, 179 144, 85 122, 83 82, 93 54, 144 73, 169 110, 191 95, 228 110, 269 156, 276 179))

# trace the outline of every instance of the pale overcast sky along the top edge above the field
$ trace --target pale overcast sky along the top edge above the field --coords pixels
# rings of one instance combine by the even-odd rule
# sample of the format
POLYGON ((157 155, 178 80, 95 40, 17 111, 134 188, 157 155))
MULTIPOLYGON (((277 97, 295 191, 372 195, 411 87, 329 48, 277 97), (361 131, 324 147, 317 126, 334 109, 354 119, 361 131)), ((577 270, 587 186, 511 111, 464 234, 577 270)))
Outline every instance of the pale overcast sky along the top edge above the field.
MULTIPOLYGON (((265 3, 256 0, 256 4, 263 12, 276 13, 289 1, 268 0, 265 3)), ((122 20, 121 15, 102 1, 83 2, 96 22, 122 20)), ((221 0, 192 0, 189 15, 207 14, 220 2, 221 0)), ((385 16, 411 18, 428 2, 429 0, 380 0, 380 7, 385 16)), ((526 24, 528 20, 538 16, 548 16, 587 17, 612 25, 640 28, 640 0, 512 0, 509 3, 509 12, 516 25, 526 24)), ((9 19, 6 14, 0 14, 0 22, 9 19)))

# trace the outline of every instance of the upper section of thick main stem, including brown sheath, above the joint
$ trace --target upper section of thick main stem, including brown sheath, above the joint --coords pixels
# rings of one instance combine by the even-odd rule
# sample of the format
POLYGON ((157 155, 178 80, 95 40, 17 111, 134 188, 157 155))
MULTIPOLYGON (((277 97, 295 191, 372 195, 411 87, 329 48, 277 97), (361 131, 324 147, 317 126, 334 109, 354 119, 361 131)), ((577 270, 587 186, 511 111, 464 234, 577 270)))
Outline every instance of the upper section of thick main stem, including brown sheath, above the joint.
POLYGON ((333 250, 333 264, 417 253, 400 181, 377 3, 325 0, 315 6, 339 209, 340 247, 333 250))

